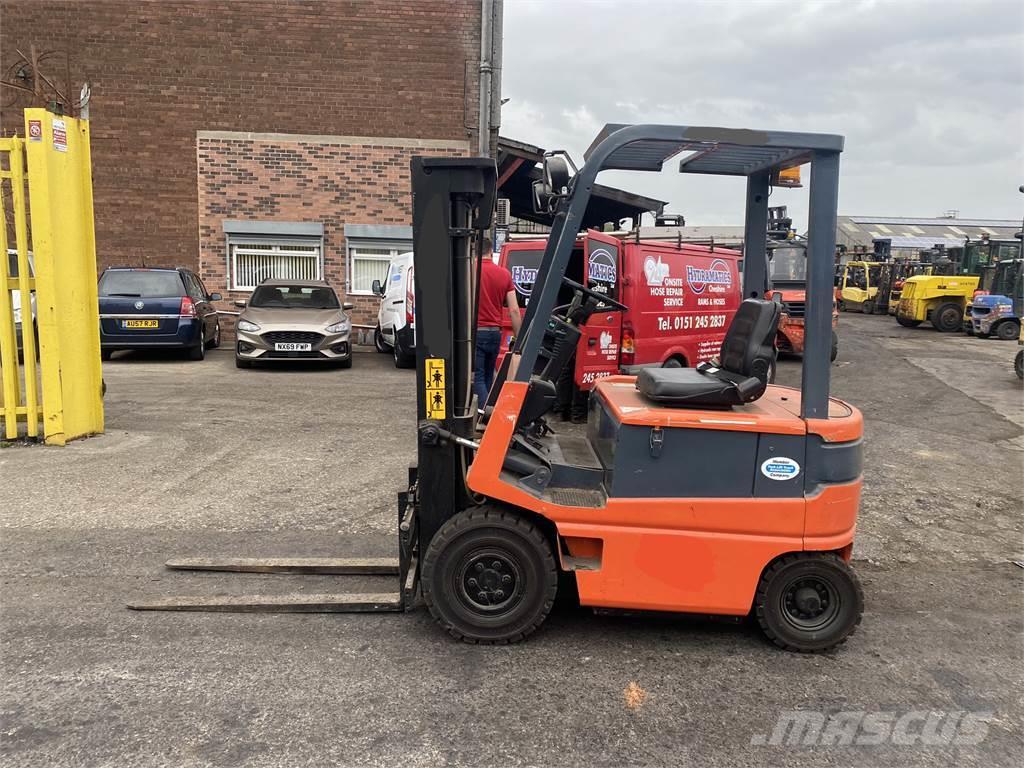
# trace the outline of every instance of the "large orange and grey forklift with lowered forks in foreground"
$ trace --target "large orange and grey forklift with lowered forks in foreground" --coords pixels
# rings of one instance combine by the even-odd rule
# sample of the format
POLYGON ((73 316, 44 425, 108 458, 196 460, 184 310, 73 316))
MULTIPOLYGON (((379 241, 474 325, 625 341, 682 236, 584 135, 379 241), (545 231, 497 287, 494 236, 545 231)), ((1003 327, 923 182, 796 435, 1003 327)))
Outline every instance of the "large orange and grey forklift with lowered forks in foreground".
POLYGON ((594 608, 753 615, 775 644, 815 652, 856 629, 849 561, 860 502, 862 418, 829 397, 833 254, 843 138, 608 125, 572 172, 545 157, 535 205, 554 214, 523 329, 486 403, 471 386, 472 244, 490 226, 493 160, 414 158, 418 463, 399 494, 394 561, 177 560, 205 570, 387 572, 395 593, 162 598, 139 609, 408 610, 422 597, 452 636, 521 640, 560 583, 594 608), (604 170, 746 179, 744 300, 721 354, 691 369, 601 380, 585 434, 545 416, 595 313, 622 311, 565 278, 604 170), (800 389, 768 384, 780 305, 768 289, 767 201, 779 171, 811 164, 800 389), (563 287, 571 300, 558 305, 563 287))

